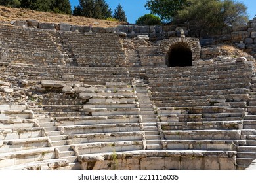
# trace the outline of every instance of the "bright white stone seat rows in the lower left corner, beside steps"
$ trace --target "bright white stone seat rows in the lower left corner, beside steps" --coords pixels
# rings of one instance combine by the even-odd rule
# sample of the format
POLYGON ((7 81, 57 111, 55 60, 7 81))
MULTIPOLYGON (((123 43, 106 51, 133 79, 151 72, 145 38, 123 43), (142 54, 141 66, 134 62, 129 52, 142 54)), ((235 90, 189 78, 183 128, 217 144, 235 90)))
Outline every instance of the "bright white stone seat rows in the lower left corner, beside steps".
POLYGON ((49 138, 42 135, 43 128, 33 119, 33 112, 24 105, 0 105, 0 108, 0 169, 17 166, 31 169, 33 166, 28 163, 35 161, 37 168, 47 166, 45 160, 55 158, 54 148, 49 138))

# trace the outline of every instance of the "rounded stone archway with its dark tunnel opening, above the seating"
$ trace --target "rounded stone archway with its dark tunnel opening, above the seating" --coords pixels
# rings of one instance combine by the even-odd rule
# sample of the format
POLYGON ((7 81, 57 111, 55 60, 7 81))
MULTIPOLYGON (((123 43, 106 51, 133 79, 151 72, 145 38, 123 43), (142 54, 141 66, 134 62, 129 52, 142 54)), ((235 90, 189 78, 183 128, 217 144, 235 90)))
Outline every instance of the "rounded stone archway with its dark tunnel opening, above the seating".
POLYGON ((169 67, 192 66, 193 61, 200 59, 200 52, 199 39, 192 37, 171 37, 158 45, 158 53, 165 54, 169 67))

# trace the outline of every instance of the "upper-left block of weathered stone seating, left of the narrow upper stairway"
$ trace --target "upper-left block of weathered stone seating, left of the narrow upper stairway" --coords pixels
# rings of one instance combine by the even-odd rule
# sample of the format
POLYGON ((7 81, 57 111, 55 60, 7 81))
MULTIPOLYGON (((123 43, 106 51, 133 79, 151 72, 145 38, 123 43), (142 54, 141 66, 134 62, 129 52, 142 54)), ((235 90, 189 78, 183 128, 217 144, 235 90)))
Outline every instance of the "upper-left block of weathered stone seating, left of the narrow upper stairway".
POLYGON ((62 53, 46 31, 0 25, 1 60, 35 65, 63 65, 62 53))

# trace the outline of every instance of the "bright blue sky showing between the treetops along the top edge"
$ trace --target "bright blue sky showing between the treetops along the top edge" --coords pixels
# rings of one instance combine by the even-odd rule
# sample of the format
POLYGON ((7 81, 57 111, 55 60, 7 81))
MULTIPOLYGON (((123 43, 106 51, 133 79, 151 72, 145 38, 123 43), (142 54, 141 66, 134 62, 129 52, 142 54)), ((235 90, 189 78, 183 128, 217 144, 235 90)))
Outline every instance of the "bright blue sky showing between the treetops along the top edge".
MULTIPOLYGON (((117 7, 118 3, 121 3, 123 10, 128 18, 128 22, 135 23, 135 21, 144 14, 150 13, 144 5, 146 0, 105 0, 108 5, 110 5, 111 10, 114 12, 114 9, 117 7)), ((250 20, 256 15, 256 1, 255 0, 240 0, 248 7, 248 14, 250 20)), ((70 0, 72 8, 79 4, 78 0, 70 0)))

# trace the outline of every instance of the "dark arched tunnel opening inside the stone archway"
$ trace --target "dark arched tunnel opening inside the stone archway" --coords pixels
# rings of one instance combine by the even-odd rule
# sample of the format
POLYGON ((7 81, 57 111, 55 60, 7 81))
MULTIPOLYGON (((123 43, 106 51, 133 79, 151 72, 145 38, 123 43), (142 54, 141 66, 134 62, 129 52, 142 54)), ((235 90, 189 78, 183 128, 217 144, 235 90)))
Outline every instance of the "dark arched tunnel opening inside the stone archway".
POLYGON ((177 43, 171 46, 168 53, 169 67, 192 66, 192 52, 187 44, 177 43))

